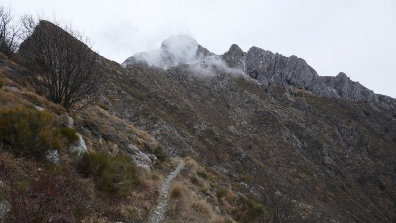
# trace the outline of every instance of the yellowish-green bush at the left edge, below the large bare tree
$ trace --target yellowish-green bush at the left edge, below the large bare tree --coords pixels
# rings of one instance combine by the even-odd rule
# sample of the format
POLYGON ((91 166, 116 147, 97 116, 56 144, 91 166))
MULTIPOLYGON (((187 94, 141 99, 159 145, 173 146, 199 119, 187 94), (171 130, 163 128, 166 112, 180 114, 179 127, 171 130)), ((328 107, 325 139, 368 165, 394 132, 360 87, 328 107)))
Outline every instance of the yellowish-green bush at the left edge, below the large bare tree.
POLYGON ((0 109, 0 140, 16 155, 44 158, 78 140, 76 131, 62 128, 53 112, 23 107, 0 109))

